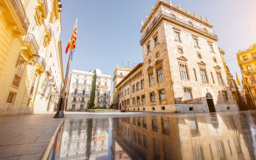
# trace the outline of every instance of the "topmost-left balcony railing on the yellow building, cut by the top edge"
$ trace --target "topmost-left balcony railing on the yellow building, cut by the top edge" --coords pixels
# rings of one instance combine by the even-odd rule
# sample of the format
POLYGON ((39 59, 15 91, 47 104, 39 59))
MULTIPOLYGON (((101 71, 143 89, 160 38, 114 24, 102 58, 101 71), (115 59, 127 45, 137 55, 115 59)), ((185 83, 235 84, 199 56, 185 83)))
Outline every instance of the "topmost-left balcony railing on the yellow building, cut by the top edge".
POLYGON ((24 30, 27 33, 28 32, 28 27, 29 27, 29 21, 28 21, 28 18, 26 16, 26 12, 23 8, 23 5, 21 3, 21 0, 11 0, 11 3, 14 7, 15 12, 17 13, 17 15, 20 19, 22 28, 24 28, 24 30))

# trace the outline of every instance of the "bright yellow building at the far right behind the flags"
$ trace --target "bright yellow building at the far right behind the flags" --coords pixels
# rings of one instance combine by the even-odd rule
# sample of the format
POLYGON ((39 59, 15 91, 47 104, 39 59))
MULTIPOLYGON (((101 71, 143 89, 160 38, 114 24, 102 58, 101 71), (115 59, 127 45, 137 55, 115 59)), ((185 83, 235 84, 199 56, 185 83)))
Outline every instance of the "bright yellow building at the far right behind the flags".
POLYGON ((245 76, 246 83, 244 78, 242 78, 242 85, 245 92, 245 98, 249 109, 255 109, 256 103, 256 87, 253 83, 253 77, 256 77, 256 43, 252 44, 250 47, 239 50, 236 53, 238 65, 241 68, 243 75, 245 76), (251 72, 250 72, 251 71, 251 72), (253 100, 254 104, 250 104, 250 101, 253 100))

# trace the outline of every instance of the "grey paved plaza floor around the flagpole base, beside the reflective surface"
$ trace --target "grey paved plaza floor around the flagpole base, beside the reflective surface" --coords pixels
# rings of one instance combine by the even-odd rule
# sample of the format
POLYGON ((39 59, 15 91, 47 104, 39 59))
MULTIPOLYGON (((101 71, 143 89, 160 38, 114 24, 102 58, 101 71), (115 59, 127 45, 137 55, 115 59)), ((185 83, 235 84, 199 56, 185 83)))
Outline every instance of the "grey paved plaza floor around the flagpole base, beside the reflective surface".
POLYGON ((53 118, 54 112, 0 117, 0 160, 40 159, 61 120, 79 118, 109 118, 124 116, 169 115, 175 113, 66 113, 53 118))

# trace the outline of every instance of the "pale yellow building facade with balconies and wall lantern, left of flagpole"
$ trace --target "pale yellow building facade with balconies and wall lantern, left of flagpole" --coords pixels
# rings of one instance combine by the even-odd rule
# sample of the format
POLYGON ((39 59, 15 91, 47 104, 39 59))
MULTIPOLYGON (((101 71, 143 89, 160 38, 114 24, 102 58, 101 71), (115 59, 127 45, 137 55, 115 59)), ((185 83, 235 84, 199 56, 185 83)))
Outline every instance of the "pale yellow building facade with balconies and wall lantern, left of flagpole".
POLYGON ((0 116, 56 103, 63 84, 60 11, 58 0, 0 1, 0 116))

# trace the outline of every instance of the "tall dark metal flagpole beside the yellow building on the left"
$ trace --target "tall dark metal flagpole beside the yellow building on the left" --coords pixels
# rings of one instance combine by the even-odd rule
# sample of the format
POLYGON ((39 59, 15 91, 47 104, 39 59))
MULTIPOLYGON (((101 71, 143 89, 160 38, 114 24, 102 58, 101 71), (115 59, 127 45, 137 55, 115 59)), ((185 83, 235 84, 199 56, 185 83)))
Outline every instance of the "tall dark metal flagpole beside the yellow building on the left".
MULTIPOLYGON (((76 18, 76 21, 75 21, 75 24, 74 24, 73 31, 75 30, 76 23, 77 23, 77 18, 76 18)), ((63 105, 65 104, 64 96, 65 96, 66 83, 67 83, 68 72, 69 72, 69 67, 70 67, 71 51, 72 51, 72 45, 73 45, 73 34, 72 34, 72 37, 71 37, 71 46, 70 46, 70 51, 69 51, 69 56, 68 56, 68 64, 67 64, 67 69, 66 69, 65 80, 64 80, 62 91, 61 91, 61 98, 60 98, 60 103, 59 103, 59 109, 58 109, 57 113, 55 114, 55 116, 53 118, 63 118, 64 117, 64 112, 63 112, 64 106, 63 105)))

